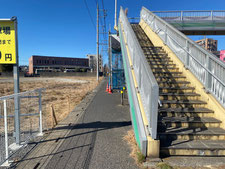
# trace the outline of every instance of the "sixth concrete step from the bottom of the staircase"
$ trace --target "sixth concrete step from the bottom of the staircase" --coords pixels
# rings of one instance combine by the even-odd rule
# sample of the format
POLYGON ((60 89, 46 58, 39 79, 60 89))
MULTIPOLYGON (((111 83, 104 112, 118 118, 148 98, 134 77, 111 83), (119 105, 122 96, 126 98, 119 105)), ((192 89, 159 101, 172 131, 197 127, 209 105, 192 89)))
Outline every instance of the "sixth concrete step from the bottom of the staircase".
POLYGON ((197 93, 160 93, 160 100, 198 100, 200 94, 197 93))

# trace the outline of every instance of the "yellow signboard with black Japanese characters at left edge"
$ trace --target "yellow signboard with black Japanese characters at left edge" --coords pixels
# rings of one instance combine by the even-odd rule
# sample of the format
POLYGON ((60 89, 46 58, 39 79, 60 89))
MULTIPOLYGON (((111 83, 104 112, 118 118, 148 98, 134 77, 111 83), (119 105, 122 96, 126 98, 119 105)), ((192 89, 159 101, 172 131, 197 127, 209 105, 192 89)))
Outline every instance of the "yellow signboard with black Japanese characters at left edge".
POLYGON ((16 64, 14 21, 0 20, 0 64, 16 64))

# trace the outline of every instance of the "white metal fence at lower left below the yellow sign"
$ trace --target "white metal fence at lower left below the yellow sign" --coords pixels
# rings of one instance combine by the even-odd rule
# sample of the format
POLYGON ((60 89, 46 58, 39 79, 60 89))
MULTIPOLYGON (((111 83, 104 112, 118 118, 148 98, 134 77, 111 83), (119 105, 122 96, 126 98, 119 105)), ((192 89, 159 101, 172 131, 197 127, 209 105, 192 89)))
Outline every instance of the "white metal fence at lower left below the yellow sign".
POLYGON ((1 124, 3 126, 1 127, 4 128, 4 131, 1 130, 0 135, 3 134, 5 137, 5 142, 4 144, 1 145, 0 154, 2 156, 0 158, 0 165, 2 165, 3 162, 5 163, 5 165, 6 164, 9 165, 9 158, 21 147, 20 146, 20 143, 22 141, 21 137, 23 137, 23 143, 27 143, 30 141, 32 137, 43 135, 42 92, 44 90, 45 88, 40 88, 40 89, 35 89, 32 91, 15 93, 9 96, 0 97, 0 119, 3 119, 4 121, 4 125, 1 124), (21 99, 25 99, 25 98, 26 98, 25 101, 21 101, 21 99), (30 99, 32 99, 32 101, 30 99), (13 105, 15 105, 15 100, 19 100, 18 101, 19 106, 17 111, 15 108, 14 109, 12 108, 14 107, 13 105), (26 107, 24 106, 25 104, 26 104, 26 107), (34 108, 33 109, 27 108, 31 106, 34 106, 34 108), (22 117, 23 119, 28 119, 28 118, 31 119, 32 118, 31 116, 32 117, 37 116, 37 118, 39 119, 38 123, 36 123, 37 127, 35 128, 33 127, 33 125, 31 126, 27 125, 28 121, 22 120, 22 117), (18 125, 13 125, 14 127, 12 128, 13 123, 11 123, 10 121, 14 121, 14 124, 17 122, 18 125), (22 123, 20 121, 22 121, 22 123), (15 132, 16 139, 10 139, 10 140, 13 142, 15 141, 16 145, 19 145, 18 149, 10 150, 9 148, 10 147, 9 143, 10 144, 13 143, 11 141, 9 142, 9 138, 8 138, 8 136, 10 135, 8 132, 9 129, 11 131, 16 131, 15 132), (29 134, 24 134, 26 131, 29 131, 29 134), (2 147, 4 147, 4 150, 2 149, 2 147))

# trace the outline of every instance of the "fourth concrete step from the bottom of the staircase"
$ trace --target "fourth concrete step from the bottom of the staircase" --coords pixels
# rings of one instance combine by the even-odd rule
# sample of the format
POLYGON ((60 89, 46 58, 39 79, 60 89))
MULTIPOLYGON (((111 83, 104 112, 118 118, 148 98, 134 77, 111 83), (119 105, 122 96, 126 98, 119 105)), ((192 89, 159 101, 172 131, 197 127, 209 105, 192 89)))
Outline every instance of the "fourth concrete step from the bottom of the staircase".
POLYGON ((214 111, 207 108, 159 108, 160 117, 212 117, 214 111))

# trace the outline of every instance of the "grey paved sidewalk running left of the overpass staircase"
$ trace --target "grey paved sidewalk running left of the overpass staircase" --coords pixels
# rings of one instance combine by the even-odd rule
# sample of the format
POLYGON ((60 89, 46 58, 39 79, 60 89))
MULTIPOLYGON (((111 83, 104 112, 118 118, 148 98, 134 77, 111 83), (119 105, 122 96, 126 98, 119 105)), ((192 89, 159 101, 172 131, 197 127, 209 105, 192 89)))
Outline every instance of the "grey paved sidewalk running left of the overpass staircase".
POLYGON ((78 106, 49 137, 37 143, 17 168, 138 168, 122 139, 132 128, 129 107, 121 106, 120 94, 107 94, 105 87, 103 81, 81 103, 83 107, 78 106))

